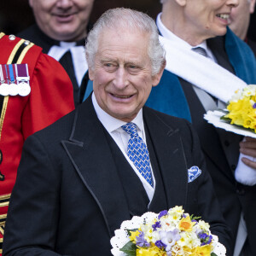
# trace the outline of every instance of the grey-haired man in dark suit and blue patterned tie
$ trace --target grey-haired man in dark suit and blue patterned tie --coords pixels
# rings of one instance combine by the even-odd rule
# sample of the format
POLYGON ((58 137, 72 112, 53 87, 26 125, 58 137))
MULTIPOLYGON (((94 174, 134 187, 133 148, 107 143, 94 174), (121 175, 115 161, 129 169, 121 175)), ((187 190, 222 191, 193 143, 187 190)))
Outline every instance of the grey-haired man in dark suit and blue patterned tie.
POLYGON ((195 131, 143 107, 166 63, 154 20, 109 9, 85 48, 93 93, 26 140, 3 255, 111 255, 110 238, 124 220, 183 206, 210 223, 230 256, 195 131))

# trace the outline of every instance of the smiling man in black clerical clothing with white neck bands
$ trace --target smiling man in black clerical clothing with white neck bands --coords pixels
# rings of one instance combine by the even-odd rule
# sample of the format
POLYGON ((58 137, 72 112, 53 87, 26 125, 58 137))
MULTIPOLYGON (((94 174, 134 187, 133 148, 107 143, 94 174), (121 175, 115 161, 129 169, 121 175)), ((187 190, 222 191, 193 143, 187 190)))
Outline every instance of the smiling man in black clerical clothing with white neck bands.
POLYGON ((94 0, 29 0, 36 24, 20 32, 54 57, 67 71, 73 83, 75 106, 83 99, 88 82, 84 58, 84 38, 89 31, 94 0))

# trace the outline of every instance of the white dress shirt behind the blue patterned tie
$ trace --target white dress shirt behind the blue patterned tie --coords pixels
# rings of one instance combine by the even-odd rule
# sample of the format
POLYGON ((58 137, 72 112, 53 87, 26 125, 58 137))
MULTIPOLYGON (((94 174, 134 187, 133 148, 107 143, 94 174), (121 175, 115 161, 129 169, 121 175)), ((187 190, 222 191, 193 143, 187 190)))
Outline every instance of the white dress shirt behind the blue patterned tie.
MULTIPOLYGON (((130 135, 126 131, 124 131, 123 128, 121 127, 122 125, 126 125, 127 123, 119 119, 113 118, 113 116, 109 115, 104 110, 102 110, 102 108, 96 102, 96 97, 94 93, 92 94, 92 103, 93 103, 93 107, 95 108, 98 119, 101 121, 102 125, 108 131, 110 136, 113 137, 114 142, 117 143, 118 147, 120 148, 122 153, 125 155, 125 159, 129 162, 132 169, 134 170, 134 172, 137 174, 137 176, 143 183, 143 187, 146 190, 149 203, 150 203, 154 196, 154 188, 155 188, 154 172, 151 164, 150 164, 150 167, 151 167, 154 187, 151 187, 151 185, 146 181, 146 179, 141 175, 141 173, 138 172, 136 166, 134 166, 133 162, 128 157, 127 147, 128 147, 128 141, 130 139, 130 135)), ((141 109, 139 113, 137 113, 137 117, 133 119, 131 122, 137 125, 138 135, 142 137, 144 143, 147 144, 144 123, 143 123, 143 109, 141 109)))

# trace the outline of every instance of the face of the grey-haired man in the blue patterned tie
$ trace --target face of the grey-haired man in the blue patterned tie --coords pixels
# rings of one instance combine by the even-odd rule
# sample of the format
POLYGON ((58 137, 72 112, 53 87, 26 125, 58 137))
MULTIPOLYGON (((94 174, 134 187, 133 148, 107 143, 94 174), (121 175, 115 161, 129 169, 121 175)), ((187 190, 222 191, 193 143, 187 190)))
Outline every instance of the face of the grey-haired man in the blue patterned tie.
POLYGON ((89 67, 99 106, 116 119, 130 122, 147 101, 163 69, 152 76, 148 34, 106 30, 100 34, 94 68, 89 67))

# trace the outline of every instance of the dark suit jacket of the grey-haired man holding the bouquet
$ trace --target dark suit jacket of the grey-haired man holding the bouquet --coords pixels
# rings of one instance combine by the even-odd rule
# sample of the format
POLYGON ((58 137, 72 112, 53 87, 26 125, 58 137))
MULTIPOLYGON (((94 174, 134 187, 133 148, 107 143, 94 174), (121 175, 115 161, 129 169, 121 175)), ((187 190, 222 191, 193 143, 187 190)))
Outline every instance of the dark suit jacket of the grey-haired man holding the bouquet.
MULTIPOLYGON (((186 212, 201 216, 229 250, 230 236, 195 131, 189 122, 150 108, 143 108, 143 119, 149 155, 155 156, 153 163, 161 177, 151 202, 154 211, 164 210, 159 196, 164 188, 168 208, 183 206, 186 212), (191 166, 199 166, 202 173, 188 183, 191 166)), ((113 156, 110 144, 115 143, 106 132, 89 98, 26 140, 3 255, 110 255, 113 231, 131 218, 132 209, 120 174, 126 166, 120 164, 121 157, 113 156)), ((131 194, 141 197, 138 189, 131 194)))

